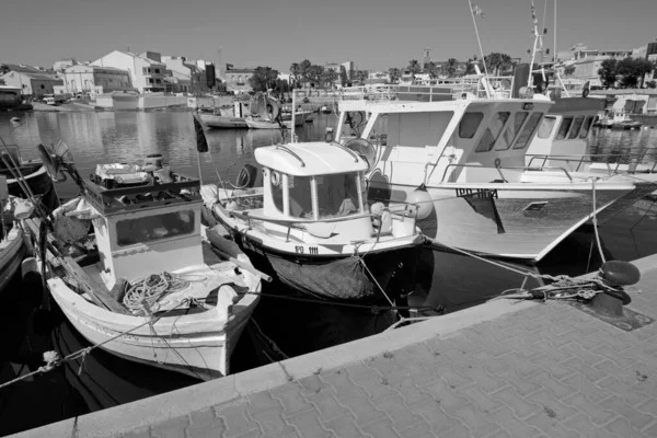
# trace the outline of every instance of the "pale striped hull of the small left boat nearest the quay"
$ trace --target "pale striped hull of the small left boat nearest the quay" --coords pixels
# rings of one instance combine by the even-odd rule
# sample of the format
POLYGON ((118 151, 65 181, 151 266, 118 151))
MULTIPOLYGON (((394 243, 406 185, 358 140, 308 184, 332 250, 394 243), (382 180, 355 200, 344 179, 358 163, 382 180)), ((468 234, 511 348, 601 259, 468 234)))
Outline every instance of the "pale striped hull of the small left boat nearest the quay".
MULTIPOLYGON (((215 310, 200 314, 168 316, 151 326, 139 316, 107 312, 73 292, 59 278, 48 279, 55 301, 91 344, 128 360, 182 372, 200 380, 211 380, 230 372, 229 359, 257 302, 250 302, 234 313, 223 326, 215 310), (113 337, 126 333, 116 339, 113 337)), ((251 298, 249 298, 251 297, 251 298)), ((240 303, 235 304, 235 308, 240 303)))

